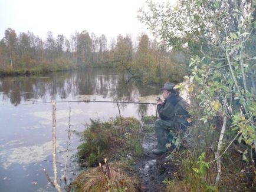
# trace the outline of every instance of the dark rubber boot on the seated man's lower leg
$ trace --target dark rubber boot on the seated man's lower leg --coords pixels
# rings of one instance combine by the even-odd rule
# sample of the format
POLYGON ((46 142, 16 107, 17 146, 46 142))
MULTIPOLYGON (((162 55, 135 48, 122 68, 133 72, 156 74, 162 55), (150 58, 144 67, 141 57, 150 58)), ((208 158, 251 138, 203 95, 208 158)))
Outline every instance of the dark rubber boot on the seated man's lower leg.
POLYGON ((157 137, 157 148, 152 151, 153 154, 160 155, 168 152, 168 148, 165 147, 167 140, 165 137, 165 130, 160 127, 155 127, 156 137, 157 137))

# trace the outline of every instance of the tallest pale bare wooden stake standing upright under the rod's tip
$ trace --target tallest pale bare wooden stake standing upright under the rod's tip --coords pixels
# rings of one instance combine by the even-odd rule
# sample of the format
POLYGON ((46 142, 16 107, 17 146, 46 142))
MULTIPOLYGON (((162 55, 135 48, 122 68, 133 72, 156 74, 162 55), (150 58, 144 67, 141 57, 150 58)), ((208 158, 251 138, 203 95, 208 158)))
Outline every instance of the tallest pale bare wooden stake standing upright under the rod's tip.
POLYGON ((57 182, 57 158, 56 158, 56 102, 52 101, 52 165, 54 173, 54 186, 60 192, 57 182))

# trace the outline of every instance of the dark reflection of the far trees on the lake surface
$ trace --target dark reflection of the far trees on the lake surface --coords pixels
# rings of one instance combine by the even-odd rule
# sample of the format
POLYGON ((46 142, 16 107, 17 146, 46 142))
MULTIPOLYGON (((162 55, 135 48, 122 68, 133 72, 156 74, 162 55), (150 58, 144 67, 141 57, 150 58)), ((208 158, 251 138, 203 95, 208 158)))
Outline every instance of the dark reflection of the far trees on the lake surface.
MULTIPOLYGON (((0 91, 2 100, 9 100, 15 106, 30 99, 74 100, 76 95, 101 95, 106 100, 137 101, 141 95, 158 94, 156 88, 136 84, 130 80, 129 74, 109 68, 58 72, 41 77, 2 78, 0 91)), ((138 105, 137 111, 140 115, 145 114, 147 105, 138 105)))

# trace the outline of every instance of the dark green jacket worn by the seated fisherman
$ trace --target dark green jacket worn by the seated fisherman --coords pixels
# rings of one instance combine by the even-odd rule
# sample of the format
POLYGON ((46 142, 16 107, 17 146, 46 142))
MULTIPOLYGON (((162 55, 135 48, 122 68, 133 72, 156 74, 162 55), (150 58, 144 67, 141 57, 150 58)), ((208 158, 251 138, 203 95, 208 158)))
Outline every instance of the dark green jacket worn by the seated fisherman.
POLYGON ((189 117, 187 109, 188 103, 179 96, 179 92, 171 93, 163 104, 157 104, 157 112, 162 120, 186 120, 189 117))

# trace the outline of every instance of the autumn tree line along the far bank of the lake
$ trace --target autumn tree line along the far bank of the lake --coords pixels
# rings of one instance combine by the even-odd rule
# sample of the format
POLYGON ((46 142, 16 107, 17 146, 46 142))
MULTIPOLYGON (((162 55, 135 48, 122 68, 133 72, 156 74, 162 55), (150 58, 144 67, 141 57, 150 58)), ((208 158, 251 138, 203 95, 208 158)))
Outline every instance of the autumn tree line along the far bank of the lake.
POLYGON ((0 73, 117 67, 143 82, 181 80, 185 55, 182 55, 182 61, 175 61, 166 47, 150 40, 146 34, 140 35, 137 41, 133 42, 129 35, 119 35, 108 43, 104 34, 96 37, 87 31, 76 32, 69 39, 64 35, 54 38, 52 32, 47 32, 43 40, 33 32, 17 34, 14 29, 8 28, 0 41, 0 73), (172 74, 172 71, 175 73, 172 74))

